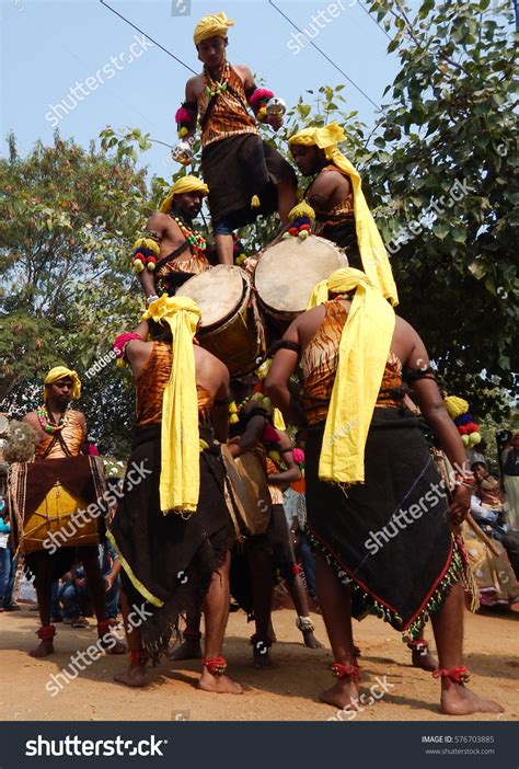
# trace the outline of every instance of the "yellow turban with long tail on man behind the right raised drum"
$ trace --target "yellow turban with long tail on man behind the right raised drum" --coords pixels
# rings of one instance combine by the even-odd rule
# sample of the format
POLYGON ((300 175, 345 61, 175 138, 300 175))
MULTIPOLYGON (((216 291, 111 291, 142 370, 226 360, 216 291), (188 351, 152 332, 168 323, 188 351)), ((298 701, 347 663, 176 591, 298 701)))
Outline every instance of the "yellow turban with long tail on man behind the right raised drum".
POLYGON ((382 238, 366 203, 360 174, 337 147, 345 138, 344 129, 334 120, 323 128, 303 128, 291 136, 288 144, 290 147, 293 145, 319 147, 324 150, 326 159, 331 160, 342 173, 349 177, 354 191, 355 227, 362 267, 366 275, 380 288, 384 297, 393 306, 396 306, 399 294, 393 273, 382 238))

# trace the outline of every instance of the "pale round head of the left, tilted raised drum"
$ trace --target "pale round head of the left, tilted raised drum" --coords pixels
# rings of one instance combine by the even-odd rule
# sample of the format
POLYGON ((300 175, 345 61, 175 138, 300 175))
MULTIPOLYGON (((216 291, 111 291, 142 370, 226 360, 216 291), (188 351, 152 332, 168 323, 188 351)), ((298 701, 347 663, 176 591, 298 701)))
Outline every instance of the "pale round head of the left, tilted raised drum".
POLYGON ((200 328, 208 329, 230 318, 243 299, 244 273, 240 267, 220 264, 189 278, 176 291, 196 301, 201 312, 200 328))

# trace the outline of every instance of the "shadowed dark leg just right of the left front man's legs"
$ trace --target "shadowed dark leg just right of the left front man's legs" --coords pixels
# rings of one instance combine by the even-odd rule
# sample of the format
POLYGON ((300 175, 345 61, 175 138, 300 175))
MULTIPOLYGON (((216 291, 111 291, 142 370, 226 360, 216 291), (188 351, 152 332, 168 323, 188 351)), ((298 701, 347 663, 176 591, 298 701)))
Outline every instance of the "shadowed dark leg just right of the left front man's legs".
POLYGON ((252 639, 254 667, 274 667, 270 659, 272 644, 269 628, 274 594, 274 563, 266 538, 257 539, 247 548, 249 566, 252 579, 252 599, 256 632, 252 639))

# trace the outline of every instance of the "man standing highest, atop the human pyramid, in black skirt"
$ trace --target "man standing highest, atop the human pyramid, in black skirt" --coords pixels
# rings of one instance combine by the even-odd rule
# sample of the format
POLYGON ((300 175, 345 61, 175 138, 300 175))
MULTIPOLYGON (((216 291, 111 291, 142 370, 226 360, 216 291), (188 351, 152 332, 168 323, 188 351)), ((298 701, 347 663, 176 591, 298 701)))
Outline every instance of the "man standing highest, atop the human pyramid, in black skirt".
POLYGON ((235 229, 275 210, 286 223, 297 190, 293 169, 257 129, 256 120, 274 130, 281 126, 281 118, 266 110, 274 93, 256 87, 249 67, 227 60, 227 33, 233 25, 224 13, 204 16, 196 25, 194 42, 204 71, 187 81, 185 102, 176 113, 185 140, 195 135, 197 119, 200 124, 201 168, 222 264, 233 263, 235 229))

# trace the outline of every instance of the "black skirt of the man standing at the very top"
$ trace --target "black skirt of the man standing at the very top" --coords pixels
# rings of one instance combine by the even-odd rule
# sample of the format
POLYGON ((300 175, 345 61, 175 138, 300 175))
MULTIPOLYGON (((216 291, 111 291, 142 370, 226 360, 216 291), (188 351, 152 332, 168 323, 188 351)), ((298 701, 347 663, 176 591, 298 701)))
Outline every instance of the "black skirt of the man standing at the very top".
POLYGON ((291 165, 256 134, 239 134, 205 147, 201 170, 212 222, 224 219, 232 229, 277 210, 278 182, 291 180, 297 186, 291 165), (253 195, 260 198, 258 208, 251 207, 253 195))

